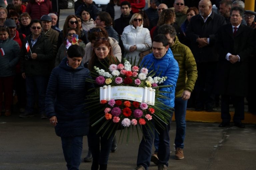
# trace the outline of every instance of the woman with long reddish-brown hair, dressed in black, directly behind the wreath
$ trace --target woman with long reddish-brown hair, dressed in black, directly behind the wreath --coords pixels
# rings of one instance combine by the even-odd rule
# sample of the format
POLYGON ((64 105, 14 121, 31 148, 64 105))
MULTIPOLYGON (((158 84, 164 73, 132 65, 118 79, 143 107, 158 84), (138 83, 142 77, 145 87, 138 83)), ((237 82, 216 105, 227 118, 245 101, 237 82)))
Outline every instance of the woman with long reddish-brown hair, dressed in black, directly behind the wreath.
MULTIPOLYGON (((109 41, 105 39, 99 39, 93 44, 93 53, 92 57, 88 63, 88 69, 90 71, 93 70, 93 67, 99 67, 100 69, 106 70, 111 64, 116 64, 118 61, 116 58, 113 57, 112 47, 109 41)), ((109 71, 109 70, 106 70, 109 71)), ((95 79, 96 77, 92 77, 95 79)), ((96 85, 96 87, 100 87, 96 85)), ((98 117, 95 114, 99 111, 100 104, 95 106, 95 109, 91 111, 90 120, 92 120, 91 125, 94 123, 93 120, 98 120, 98 117)), ((104 114, 104 113, 103 113, 104 114)), ((102 115, 101 115, 102 116, 102 115)), ((102 122, 103 123, 103 122, 102 122)), ((104 129, 101 130, 99 133, 97 131, 100 129, 102 123, 98 123, 96 126, 89 128, 88 137, 88 146, 92 153, 92 166, 91 170, 107 170, 108 164, 108 157, 112 146, 112 140, 114 137, 114 132, 111 134, 105 133, 104 129), (97 134, 96 134, 97 133, 97 134), (104 135, 103 135, 104 134, 104 135)), ((110 127, 111 129, 111 127, 110 127)))

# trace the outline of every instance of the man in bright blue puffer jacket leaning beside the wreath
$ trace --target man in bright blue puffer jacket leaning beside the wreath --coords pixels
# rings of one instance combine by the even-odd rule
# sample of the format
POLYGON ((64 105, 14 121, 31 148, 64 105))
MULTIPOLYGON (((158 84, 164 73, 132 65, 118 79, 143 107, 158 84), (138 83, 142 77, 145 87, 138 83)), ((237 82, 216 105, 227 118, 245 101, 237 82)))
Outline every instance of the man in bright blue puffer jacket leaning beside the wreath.
MULTIPOLYGON (((179 75, 179 65, 174 59, 171 49, 168 45, 168 39, 163 34, 159 34, 153 39, 152 45, 153 53, 146 55, 143 60, 143 66, 148 67, 149 72, 154 69, 157 76, 167 76, 167 80, 163 85, 171 85, 171 87, 161 88, 160 91, 166 91, 168 93, 162 93, 166 96, 166 99, 161 99, 161 102, 168 107, 174 107, 175 88, 179 75), (150 67, 153 64, 152 67, 150 67)), ((173 109, 169 109, 170 116, 173 114, 173 109)), ((167 170, 168 160, 170 157, 170 122, 167 124, 162 123, 161 128, 159 125, 154 124, 155 128, 159 132, 159 148, 158 148, 158 170, 167 170)), ((144 138, 140 142, 137 167, 135 170, 147 170, 151 160, 152 143, 154 139, 154 129, 148 130, 144 126, 142 127, 144 138)))

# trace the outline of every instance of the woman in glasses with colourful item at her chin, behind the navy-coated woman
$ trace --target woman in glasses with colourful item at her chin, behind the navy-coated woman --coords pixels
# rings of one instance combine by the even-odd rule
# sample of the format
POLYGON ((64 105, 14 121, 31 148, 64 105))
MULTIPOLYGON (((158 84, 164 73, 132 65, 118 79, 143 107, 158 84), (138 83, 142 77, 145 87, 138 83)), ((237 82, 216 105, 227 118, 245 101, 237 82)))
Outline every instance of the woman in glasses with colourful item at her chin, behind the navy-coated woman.
MULTIPOLYGON (((67 29, 67 35, 66 35, 66 41, 64 41, 58 50, 56 59, 55 59, 55 67, 59 66, 63 58, 67 57, 67 50, 72 45, 73 37, 78 35, 78 31, 76 28, 68 28, 67 29)), ((82 42, 82 40, 78 39, 78 45, 83 47, 85 49, 85 43, 82 42)), ((84 57, 84 56, 83 56, 84 57)))

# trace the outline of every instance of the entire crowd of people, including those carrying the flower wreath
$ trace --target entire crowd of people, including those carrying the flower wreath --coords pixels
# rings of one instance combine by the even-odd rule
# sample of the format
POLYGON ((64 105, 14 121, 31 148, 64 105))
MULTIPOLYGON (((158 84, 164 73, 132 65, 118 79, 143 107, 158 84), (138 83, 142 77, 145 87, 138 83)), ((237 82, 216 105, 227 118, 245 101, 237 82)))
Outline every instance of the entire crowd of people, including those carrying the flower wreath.
POLYGON ((184 158, 187 107, 212 112, 220 105, 222 128, 230 126, 232 104, 234 126, 244 128, 245 99, 256 113, 256 12, 244 10, 241 0, 150 0, 144 10, 145 4, 110 0, 99 12, 92 0, 78 0, 63 30, 50 0, 12 0, 0 7, 0 116, 12 115, 17 95, 20 118, 39 114, 55 127, 69 170, 79 168, 85 135, 84 161, 92 161, 91 170, 106 170, 117 143, 114 132, 106 137, 90 126, 93 111, 85 113, 83 101, 98 85, 86 79, 92 79, 93 66, 106 69, 102 63, 127 58, 153 65, 149 71, 158 68, 156 75, 167 76, 165 85, 172 85, 161 89, 168 92, 162 102, 173 108, 170 120, 164 129, 154 122, 155 131, 142 127, 135 170, 147 170, 151 161, 167 170, 173 115, 175 159, 184 158))

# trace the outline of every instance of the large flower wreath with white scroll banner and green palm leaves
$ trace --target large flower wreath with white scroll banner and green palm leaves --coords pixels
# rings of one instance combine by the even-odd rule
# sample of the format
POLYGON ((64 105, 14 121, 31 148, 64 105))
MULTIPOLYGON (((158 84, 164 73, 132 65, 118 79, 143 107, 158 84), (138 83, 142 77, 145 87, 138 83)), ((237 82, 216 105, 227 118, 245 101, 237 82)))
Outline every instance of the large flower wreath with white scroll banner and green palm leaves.
POLYGON ((96 86, 95 92, 89 96, 90 106, 87 109, 94 109, 91 116, 92 126, 101 125, 97 132, 102 131, 103 135, 115 133, 121 129, 120 137, 123 131, 127 131, 127 142, 132 129, 142 130, 142 126, 152 130, 151 123, 161 125, 167 123, 170 115, 166 110, 170 107, 161 103, 159 98, 165 98, 161 95, 159 88, 168 85, 160 85, 167 77, 157 77, 153 71, 148 72, 147 68, 132 66, 129 61, 124 59, 124 64, 111 64, 99 69, 94 66, 92 77, 96 86))

